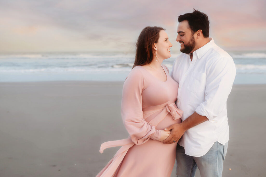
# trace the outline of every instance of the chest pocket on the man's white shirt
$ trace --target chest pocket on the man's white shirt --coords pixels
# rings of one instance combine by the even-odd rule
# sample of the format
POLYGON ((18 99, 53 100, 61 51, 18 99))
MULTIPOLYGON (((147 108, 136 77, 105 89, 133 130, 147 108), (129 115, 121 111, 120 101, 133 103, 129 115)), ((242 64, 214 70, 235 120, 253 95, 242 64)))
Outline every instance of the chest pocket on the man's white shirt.
POLYGON ((206 73, 192 72, 192 76, 188 83, 190 92, 201 93, 205 90, 206 73))

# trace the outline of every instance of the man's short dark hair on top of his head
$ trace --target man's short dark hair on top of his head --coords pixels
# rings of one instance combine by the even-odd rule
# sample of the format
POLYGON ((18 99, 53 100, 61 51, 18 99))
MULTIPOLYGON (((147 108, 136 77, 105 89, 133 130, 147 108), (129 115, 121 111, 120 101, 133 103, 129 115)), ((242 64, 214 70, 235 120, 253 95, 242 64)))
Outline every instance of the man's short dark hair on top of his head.
POLYGON ((192 13, 186 13, 178 16, 178 22, 188 20, 190 29, 195 33, 198 30, 202 30, 202 34, 205 38, 209 37, 210 21, 206 14, 194 9, 192 13))

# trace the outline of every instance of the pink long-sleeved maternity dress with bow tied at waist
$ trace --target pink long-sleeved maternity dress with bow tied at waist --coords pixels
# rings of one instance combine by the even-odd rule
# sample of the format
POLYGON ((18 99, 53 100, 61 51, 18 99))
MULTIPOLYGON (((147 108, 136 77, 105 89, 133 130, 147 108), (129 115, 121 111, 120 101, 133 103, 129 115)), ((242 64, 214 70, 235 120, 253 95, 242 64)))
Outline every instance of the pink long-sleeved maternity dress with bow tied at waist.
POLYGON ((178 83, 162 65, 167 80, 160 81, 144 67, 136 66, 123 86, 121 115, 130 137, 108 141, 100 152, 122 146, 96 177, 169 177, 176 157, 176 144, 158 141, 160 131, 181 122, 177 109, 178 83))

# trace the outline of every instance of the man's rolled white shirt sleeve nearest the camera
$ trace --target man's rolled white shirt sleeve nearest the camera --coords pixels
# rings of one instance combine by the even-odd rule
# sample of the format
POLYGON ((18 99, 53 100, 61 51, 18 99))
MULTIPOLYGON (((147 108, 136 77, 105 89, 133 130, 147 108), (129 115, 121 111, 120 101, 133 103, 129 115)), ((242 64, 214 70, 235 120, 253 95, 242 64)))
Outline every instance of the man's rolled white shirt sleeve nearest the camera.
POLYGON ((226 106, 235 79, 236 69, 232 58, 221 57, 207 66, 205 101, 196 113, 213 120, 226 106))

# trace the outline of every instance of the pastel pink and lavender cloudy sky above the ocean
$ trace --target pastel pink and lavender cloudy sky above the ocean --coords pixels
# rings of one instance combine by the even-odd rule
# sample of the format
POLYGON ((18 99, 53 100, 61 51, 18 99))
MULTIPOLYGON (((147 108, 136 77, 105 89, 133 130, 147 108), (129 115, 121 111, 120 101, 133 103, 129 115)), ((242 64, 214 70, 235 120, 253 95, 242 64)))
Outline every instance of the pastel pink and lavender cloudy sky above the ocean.
POLYGON ((266 50, 265 0, 0 0, 0 52, 134 52, 146 26, 166 29, 172 51, 178 15, 203 11, 225 50, 266 50))

